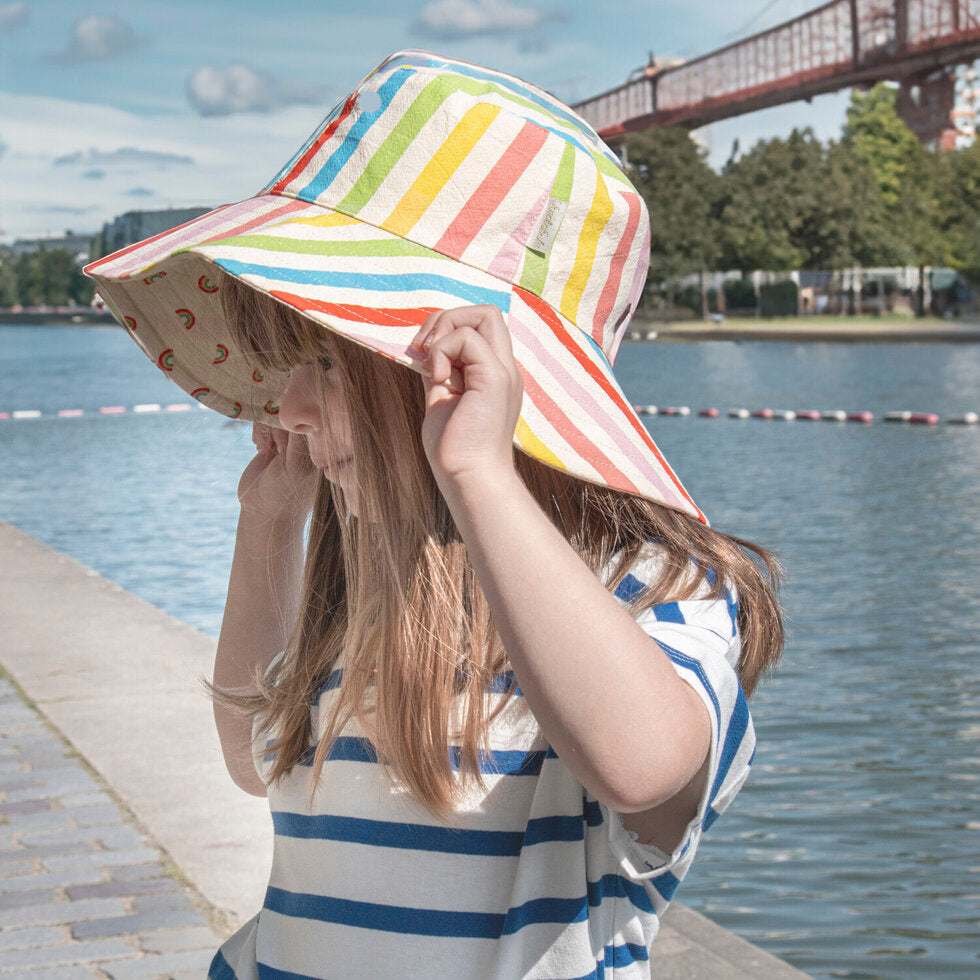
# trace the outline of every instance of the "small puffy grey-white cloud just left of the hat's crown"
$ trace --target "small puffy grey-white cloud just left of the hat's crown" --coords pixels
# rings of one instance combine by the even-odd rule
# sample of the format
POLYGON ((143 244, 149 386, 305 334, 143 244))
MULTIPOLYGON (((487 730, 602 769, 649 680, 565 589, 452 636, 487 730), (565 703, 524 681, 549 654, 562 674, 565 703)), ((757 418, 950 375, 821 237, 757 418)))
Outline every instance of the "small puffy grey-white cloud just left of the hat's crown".
POLYGON ((271 112, 285 105, 324 102, 320 86, 274 78, 248 65, 198 68, 187 80, 187 99, 202 116, 271 112))

